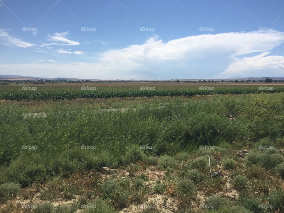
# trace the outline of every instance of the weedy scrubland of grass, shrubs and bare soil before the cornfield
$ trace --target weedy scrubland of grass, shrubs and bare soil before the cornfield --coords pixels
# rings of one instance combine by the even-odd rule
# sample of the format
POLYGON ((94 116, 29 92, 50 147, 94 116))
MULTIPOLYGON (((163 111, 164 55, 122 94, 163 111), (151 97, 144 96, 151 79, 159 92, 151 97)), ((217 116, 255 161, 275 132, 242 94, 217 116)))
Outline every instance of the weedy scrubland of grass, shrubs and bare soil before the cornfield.
POLYGON ((284 212, 282 87, 227 90, 4 98, 0 212, 284 212))

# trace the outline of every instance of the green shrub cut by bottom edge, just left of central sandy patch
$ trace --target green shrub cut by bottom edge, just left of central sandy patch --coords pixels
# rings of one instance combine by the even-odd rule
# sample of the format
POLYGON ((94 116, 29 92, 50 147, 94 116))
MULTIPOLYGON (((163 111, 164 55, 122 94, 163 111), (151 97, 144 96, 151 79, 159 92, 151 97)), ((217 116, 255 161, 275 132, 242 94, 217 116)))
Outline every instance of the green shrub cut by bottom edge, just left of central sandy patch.
POLYGON ((117 211, 107 201, 100 198, 89 205, 93 208, 86 208, 83 213, 116 213, 117 211))

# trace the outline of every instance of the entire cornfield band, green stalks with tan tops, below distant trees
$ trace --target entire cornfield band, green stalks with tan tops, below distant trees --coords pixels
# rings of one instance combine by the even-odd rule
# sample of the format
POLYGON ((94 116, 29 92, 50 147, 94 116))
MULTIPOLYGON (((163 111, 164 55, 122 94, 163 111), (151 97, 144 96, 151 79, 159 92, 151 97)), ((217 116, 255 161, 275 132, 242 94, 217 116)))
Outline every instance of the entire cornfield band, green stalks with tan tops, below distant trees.
MULTIPOLYGON (((90 85, 90 84, 88 84, 90 85)), ((0 100, 62 100, 62 99, 95 99, 95 98, 125 98, 125 97, 153 97, 153 96, 195 96, 195 95, 214 95, 214 94, 248 94, 248 93, 279 93, 284 91, 283 85, 239 85, 228 87, 220 84, 199 84, 190 87, 184 85, 172 87, 167 84, 151 84, 150 86, 142 86, 146 89, 141 90, 140 85, 124 85, 122 87, 96 87, 81 84, 66 87, 37 86, 28 85, 22 89, 17 85, 4 85, 5 89, 0 90, 0 100), (160 85, 160 86, 159 86, 160 85), (156 86, 156 87, 155 87, 156 86), (84 87, 84 89, 81 89, 84 87), (259 89, 262 87, 264 89, 259 89), (30 89, 29 89, 30 88, 30 89), (149 88, 149 89, 147 89, 149 88)), ((66 86, 66 84, 65 84, 66 86)))

